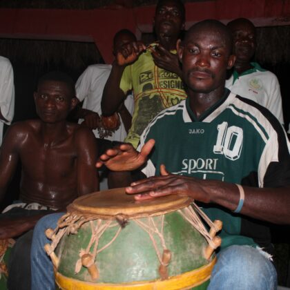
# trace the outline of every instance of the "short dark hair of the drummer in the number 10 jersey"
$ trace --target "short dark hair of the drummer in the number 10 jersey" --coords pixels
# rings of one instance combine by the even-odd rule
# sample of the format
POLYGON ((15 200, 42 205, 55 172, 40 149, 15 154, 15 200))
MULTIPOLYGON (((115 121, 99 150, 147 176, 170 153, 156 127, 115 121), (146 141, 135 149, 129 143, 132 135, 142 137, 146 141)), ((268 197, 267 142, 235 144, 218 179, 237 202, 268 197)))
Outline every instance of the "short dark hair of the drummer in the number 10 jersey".
POLYGON ((231 54, 232 47, 233 47, 233 39, 231 36, 231 31, 226 25, 224 25, 224 23, 215 19, 206 19, 206 20, 193 24, 193 26, 191 26, 191 28, 189 28, 189 30, 186 32, 184 41, 186 41, 188 35, 190 35, 191 32, 193 32, 193 30, 196 30, 199 28, 217 28, 224 36, 224 39, 226 41, 226 46, 229 47, 229 53, 231 54))

